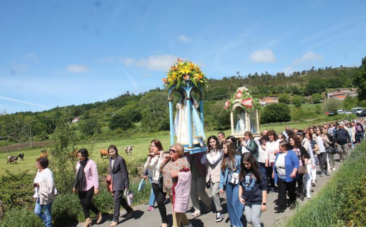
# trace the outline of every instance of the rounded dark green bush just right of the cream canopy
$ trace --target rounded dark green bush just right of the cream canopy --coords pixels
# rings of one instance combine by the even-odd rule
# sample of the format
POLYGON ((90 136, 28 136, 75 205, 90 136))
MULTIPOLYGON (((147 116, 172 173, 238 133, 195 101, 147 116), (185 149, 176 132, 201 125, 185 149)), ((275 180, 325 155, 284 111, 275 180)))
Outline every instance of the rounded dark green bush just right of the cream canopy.
POLYGON ((288 122, 290 120, 290 107, 284 103, 273 103, 266 105, 261 112, 261 124, 288 122))

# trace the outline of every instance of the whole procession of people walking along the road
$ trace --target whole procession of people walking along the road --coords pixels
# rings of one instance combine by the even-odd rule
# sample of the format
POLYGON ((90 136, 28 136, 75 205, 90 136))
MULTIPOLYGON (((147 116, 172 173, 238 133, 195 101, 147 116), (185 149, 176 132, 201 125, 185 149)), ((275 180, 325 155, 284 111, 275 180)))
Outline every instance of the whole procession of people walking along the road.
MULTIPOLYGON (((345 119, 322 126, 314 123, 303 129, 287 126, 279 133, 263 130, 256 137, 247 131, 239 139, 225 138, 224 132, 219 132, 217 136, 209 136, 206 152, 195 154, 184 153, 184 147, 179 143, 171 146, 169 153, 164 152, 161 142, 154 139, 144 165, 144 178, 149 178, 152 184, 148 210, 152 211, 156 202, 161 226, 169 226, 165 207, 168 195, 173 205, 172 226, 191 227, 186 215, 189 199, 194 207, 192 216, 210 213, 213 202, 215 221, 221 222, 225 214, 220 195, 225 193, 231 227, 241 227, 245 222, 264 226, 261 213, 267 209, 267 194, 277 193, 277 213, 288 207, 295 209, 297 199, 310 199, 311 187, 317 182, 316 166, 321 170, 320 177, 335 171, 334 154, 339 153, 340 162, 347 159, 348 148, 364 138, 365 124, 363 119, 352 122, 345 119), (207 194, 206 188, 212 196, 207 194), (199 199, 205 205, 203 210, 199 199)), ((130 186, 126 162, 116 146, 109 146, 108 153, 111 155, 110 191, 114 197, 111 226, 116 226, 120 206, 126 210, 127 219, 133 216, 133 209, 123 197, 130 186)), ((102 220, 102 213, 92 203, 93 195, 97 195, 99 189, 98 172, 86 149, 78 151, 78 158, 73 191, 78 193, 85 216, 84 227, 87 227, 92 223, 90 211, 97 214, 97 224, 102 220)), ((36 167, 34 212, 48 227, 52 226, 51 208, 57 189, 48 169, 48 159, 38 158, 36 167)))

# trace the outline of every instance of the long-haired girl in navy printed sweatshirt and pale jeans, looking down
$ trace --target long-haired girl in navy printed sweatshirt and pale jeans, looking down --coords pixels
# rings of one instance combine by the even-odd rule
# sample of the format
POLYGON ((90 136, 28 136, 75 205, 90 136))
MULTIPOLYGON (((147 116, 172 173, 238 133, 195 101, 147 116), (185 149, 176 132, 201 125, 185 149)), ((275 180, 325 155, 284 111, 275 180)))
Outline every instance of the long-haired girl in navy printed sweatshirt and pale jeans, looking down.
POLYGON ((239 201, 244 204, 247 223, 262 226, 261 213, 267 209, 267 178, 258 169, 251 153, 244 153, 240 160, 239 201))

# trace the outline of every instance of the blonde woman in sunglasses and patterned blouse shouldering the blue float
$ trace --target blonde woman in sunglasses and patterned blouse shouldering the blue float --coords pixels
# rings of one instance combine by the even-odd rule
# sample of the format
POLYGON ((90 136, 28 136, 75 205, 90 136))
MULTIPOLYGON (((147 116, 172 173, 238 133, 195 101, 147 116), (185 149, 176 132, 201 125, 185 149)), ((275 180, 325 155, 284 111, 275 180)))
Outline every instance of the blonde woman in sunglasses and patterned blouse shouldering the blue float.
MULTIPOLYGON (((164 155, 163 167, 163 192, 167 193, 170 198, 170 202, 173 203, 173 185, 178 182, 179 172, 184 169, 190 169, 190 164, 186 158, 184 158, 184 147, 175 143, 170 150, 170 154, 164 155)), ((187 194, 190 194, 190 189, 187 194)), ((172 211, 173 227, 193 227, 188 221, 186 213, 177 213, 172 211)))

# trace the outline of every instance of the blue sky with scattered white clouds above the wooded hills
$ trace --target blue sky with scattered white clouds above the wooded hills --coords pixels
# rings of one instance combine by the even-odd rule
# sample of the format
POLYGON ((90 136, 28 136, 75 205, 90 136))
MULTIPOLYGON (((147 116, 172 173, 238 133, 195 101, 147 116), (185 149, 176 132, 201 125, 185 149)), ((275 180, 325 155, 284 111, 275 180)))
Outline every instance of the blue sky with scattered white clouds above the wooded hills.
POLYGON ((366 1, 1 1, 0 111, 162 87, 176 57, 211 78, 359 66, 366 1))

